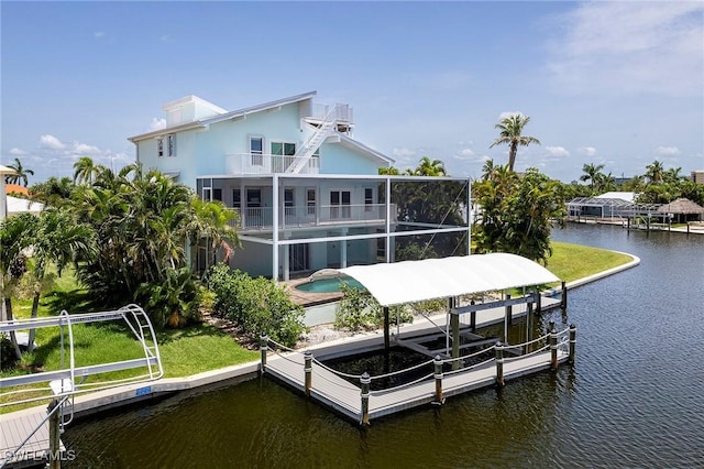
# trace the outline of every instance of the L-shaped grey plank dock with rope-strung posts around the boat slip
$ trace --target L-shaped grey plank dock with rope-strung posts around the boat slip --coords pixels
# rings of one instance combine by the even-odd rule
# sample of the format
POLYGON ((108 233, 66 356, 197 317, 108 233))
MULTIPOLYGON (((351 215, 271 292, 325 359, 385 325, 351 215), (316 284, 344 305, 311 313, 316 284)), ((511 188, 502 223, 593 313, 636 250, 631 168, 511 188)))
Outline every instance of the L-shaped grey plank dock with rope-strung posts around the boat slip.
MULTIPOLYGON (((565 362, 568 352, 558 350, 558 361, 565 362)), ((508 381, 526 374, 549 369, 551 352, 542 351, 525 357, 505 359, 504 380, 508 381)), ((432 366, 428 366, 432 373, 432 366)), ((305 392, 304 356, 300 352, 276 355, 267 359, 265 375, 283 381, 287 385, 305 392)), ((496 363, 491 360, 466 371, 444 373, 442 393, 444 397, 470 392, 496 383, 496 363)), ((362 389, 328 371, 314 361, 310 397, 332 408, 344 417, 362 421, 362 389)), ((372 391, 369 401, 370 419, 394 414, 408 408, 426 405, 436 400, 436 382, 429 378, 416 384, 391 391, 372 391)))

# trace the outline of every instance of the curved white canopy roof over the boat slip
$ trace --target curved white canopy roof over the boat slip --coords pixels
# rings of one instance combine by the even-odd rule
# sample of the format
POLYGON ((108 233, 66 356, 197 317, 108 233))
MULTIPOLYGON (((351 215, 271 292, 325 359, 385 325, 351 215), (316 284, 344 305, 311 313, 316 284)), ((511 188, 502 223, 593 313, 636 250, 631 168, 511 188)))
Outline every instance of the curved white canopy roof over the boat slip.
POLYGON ((540 285, 560 279, 516 254, 491 253, 338 269, 382 306, 540 285))

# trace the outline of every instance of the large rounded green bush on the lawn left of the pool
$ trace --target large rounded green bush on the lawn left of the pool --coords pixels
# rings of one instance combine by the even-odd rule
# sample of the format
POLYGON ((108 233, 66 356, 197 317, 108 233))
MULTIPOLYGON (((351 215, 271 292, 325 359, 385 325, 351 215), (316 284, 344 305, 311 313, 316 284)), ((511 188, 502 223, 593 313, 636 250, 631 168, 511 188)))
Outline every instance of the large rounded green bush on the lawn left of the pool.
POLYGON ((218 264, 208 271, 206 285, 216 294, 215 315, 234 321, 252 339, 266 332, 275 341, 293 347, 306 330, 304 308, 293 303, 286 290, 273 280, 252 279, 218 264))

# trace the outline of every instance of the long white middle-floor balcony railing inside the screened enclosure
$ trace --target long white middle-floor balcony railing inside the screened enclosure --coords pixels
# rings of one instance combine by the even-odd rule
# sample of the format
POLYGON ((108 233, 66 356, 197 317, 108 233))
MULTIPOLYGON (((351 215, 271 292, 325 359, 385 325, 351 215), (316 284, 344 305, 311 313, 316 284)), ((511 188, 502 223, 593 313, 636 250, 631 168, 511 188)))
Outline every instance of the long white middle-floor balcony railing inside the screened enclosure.
MULTIPOLYGON (((240 231, 271 230, 271 207, 233 208, 237 218, 230 226, 240 231)), ((392 222, 396 221, 396 205, 392 204, 392 222)), ((284 207, 278 214, 278 228, 310 228, 344 225, 386 223, 386 205, 323 205, 284 207)))

